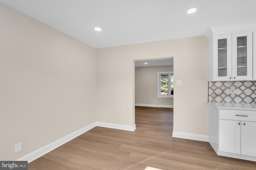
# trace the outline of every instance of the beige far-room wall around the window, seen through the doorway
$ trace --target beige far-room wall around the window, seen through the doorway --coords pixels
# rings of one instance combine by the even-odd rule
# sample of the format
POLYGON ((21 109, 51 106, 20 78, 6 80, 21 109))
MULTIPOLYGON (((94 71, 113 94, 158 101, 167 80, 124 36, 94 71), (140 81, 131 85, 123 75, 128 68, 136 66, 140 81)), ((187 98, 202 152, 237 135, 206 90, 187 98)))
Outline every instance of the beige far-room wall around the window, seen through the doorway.
POLYGON ((173 98, 157 97, 157 72, 160 71, 173 71, 173 66, 135 67, 135 104, 173 106, 173 98))

